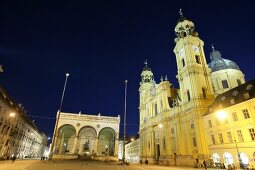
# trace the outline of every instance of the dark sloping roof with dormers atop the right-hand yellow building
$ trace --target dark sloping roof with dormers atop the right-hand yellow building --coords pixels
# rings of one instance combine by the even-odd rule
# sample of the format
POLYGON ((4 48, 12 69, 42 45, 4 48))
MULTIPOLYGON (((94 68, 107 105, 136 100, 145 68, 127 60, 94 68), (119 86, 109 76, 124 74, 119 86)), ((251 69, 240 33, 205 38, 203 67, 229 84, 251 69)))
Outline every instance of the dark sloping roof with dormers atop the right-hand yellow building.
POLYGON ((255 79, 217 96, 213 104, 209 107, 209 112, 212 113, 252 98, 255 98, 255 79))

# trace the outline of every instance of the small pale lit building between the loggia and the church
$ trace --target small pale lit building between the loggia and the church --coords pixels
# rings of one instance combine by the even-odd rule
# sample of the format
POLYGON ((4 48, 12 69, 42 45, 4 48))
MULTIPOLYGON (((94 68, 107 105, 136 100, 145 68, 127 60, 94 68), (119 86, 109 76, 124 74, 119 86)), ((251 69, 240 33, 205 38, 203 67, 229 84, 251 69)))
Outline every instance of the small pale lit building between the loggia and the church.
POLYGON ((127 162, 137 163, 140 160, 140 140, 135 139, 125 145, 125 158, 127 162))

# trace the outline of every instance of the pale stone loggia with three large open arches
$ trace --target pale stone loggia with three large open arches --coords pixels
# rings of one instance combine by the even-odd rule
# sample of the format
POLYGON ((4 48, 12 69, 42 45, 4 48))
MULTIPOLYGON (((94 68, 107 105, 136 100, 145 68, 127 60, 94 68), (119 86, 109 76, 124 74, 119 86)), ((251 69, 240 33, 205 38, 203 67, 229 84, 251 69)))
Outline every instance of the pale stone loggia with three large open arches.
POLYGON ((57 113, 53 158, 74 159, 83 155, 118 157, 120 117, 57 113), (58 118, 57 118, 58 119, 58 118))

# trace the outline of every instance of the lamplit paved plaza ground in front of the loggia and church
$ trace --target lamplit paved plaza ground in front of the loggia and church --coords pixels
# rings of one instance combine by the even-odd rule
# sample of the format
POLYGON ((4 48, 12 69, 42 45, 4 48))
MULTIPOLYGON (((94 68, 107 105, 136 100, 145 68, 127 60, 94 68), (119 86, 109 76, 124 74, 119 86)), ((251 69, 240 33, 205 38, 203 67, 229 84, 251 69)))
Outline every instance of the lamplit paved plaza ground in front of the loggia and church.
POLYGON ((40 161, 40 160, 16 160, 0 161, 0 170, 181 170, 194 169, 188 167, 169 167, 145 164, 117 165, 115 162, 99 161, 40 161))

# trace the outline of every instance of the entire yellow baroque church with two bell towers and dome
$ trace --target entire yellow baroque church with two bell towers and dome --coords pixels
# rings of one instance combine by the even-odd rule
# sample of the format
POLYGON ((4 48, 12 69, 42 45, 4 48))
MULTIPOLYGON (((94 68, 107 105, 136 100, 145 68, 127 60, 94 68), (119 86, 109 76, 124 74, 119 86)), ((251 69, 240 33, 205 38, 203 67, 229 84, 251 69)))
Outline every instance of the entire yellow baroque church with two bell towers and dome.
POLYGON ((222 58, 214 47, 207 64, 204 42, 182 13, 175 34, 179 88, 167 77, 156 83, 147 62, 141 73, 140 160, 193 166, 212 158, 203 116, 215 97, 242 85, 245 79, 237 64, 222 58))

